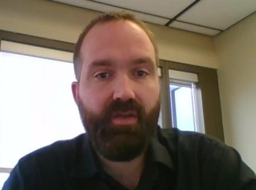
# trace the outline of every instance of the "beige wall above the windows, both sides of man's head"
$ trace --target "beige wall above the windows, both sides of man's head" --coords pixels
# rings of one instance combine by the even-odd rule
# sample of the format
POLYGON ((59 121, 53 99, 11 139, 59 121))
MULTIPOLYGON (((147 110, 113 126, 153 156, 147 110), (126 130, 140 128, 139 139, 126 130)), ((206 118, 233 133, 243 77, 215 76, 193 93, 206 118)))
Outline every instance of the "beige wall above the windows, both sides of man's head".
MULTIPOLYGON (((0 1, 0 30, 75 43, 84 26, 99 14, 49 0, 0 1)), ((161 59, 218 67, 212 37, 153 24, 150 27, 161 59)))

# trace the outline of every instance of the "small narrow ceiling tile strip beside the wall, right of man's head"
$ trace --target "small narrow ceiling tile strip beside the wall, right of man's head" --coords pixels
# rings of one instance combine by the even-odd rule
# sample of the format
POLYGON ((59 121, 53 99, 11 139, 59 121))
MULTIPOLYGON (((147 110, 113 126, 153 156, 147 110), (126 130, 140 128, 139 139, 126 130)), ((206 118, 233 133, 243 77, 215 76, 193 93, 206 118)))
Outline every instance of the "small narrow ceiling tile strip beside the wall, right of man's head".
POLYGON ((191 32, 202 33, 202 34, 211 35, 211 36, 215 36, 216 34, 221 32, 218 30, 214 30, 214 29, 210 29, 210 28, 206 28, 206 27, 202 27, 202 26, 197 26, 197 25, 193 25, 193 24, 188 24, 188 23, 184 23, 184 22, 180 22, 180 21, 172 22, 169 25, 169 27, 178 28, 178 29, 191 31, 191 32))

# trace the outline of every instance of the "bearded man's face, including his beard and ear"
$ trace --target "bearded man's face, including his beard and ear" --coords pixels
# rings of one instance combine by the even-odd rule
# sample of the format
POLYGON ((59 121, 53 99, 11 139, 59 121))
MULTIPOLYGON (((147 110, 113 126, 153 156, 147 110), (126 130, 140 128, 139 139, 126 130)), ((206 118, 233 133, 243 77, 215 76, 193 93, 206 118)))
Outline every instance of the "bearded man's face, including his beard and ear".
POLYGON ((73 95, 96 152, 112 161, 141 154, 157 128, 160 86, 146 33, 131 21, 96 24, 83 40, 73 95))

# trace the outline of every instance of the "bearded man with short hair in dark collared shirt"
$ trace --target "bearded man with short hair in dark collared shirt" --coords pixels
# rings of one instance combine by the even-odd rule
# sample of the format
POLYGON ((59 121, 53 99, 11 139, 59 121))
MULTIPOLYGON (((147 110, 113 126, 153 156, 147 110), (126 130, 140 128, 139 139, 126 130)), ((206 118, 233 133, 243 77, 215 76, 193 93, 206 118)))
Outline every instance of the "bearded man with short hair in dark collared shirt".
POLYGON ((157 127, 157 63, 152 33, 132 15, 93 20, 76 44, 72 83, 87 134, 20 159, 3 189, 255 190, 234 149, 157 127))

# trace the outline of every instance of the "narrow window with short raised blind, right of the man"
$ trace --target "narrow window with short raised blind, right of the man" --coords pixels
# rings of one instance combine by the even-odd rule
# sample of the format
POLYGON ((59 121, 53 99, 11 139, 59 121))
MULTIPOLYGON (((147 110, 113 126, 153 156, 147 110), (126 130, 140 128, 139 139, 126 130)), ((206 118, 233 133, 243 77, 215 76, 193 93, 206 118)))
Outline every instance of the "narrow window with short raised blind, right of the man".
POLYGON ((204 133, 201 95, 196 93, 197 74, 169 70, 172 126, 204 133))

